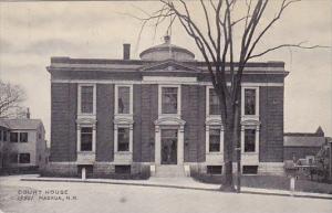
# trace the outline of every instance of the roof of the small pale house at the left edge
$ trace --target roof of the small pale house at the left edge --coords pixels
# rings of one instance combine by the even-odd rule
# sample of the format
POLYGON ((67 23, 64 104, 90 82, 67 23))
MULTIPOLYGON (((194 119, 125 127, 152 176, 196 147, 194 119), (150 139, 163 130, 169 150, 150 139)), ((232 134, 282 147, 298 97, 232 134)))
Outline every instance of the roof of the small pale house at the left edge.
POLYGON ((43 125, 41 119, 0 119, 0 124, 4 123, 10 129, 38 129, 43 125))

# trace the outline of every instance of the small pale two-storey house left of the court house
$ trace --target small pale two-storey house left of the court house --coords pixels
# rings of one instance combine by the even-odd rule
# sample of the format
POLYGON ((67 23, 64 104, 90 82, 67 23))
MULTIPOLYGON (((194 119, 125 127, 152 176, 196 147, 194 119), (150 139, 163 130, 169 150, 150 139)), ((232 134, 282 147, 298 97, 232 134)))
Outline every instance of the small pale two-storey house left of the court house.
MULTIPOLYGON (((46 163, 45 130, 40 119, 0 119, 6 145, 2 169, 9 172, 44 168, 46 163), (6 129, 3 126, 6 125, 6 129)), ((1 127, 0 127, 1 128, 1 127)))

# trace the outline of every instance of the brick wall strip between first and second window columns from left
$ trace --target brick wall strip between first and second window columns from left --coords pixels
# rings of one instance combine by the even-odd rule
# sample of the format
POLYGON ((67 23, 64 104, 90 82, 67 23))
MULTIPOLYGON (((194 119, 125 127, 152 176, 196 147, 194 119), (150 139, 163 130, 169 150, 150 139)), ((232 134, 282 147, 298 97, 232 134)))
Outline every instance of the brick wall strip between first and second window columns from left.
POLYGON ((114 85, 96 85, 96 160, 114 159, 114 85))

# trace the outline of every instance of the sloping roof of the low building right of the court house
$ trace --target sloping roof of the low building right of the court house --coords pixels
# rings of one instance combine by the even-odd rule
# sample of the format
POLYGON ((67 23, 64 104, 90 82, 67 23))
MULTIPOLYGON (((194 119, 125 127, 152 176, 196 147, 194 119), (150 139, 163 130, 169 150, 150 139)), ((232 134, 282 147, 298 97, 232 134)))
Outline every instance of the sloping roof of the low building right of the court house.
POLYGON ((321 147, 325 142, 324 137, 320 136, 284 136, 284 147, 321 147))

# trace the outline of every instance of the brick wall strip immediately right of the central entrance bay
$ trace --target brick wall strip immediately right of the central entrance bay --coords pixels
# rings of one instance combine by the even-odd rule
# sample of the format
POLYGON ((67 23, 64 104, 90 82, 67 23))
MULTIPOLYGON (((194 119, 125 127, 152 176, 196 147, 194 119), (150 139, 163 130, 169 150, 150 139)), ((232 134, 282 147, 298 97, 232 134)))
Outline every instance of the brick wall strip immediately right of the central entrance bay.
POLYGON ((181 86, 185 125, 185 162, 205 161, 205 86, 181 86))

